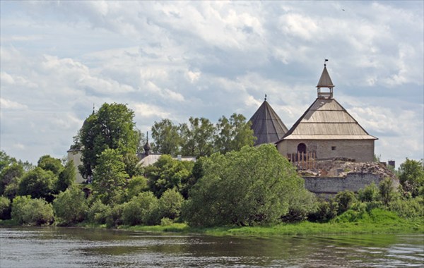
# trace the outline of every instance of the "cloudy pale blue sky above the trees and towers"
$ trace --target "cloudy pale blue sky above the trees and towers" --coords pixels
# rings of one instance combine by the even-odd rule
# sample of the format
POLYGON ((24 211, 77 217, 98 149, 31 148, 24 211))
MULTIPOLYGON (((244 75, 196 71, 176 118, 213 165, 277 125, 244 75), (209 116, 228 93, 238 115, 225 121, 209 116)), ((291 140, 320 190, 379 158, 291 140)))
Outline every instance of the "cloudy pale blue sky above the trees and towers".
POLYGON ((288 128, 334 98, 399 166, 424 156, 424 1, 0 1, 0 149, 66 156, 83 121, 123 103, 155 121, 249 119, 288 128))

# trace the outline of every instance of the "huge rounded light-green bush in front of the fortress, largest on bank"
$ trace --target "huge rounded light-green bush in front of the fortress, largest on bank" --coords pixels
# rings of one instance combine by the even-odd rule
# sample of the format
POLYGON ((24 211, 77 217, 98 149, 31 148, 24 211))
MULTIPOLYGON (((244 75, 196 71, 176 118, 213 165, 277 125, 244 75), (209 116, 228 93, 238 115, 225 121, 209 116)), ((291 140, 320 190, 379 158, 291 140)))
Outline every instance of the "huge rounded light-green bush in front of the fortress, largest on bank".
POLYGON ((183 217, 190 226, 275 224, 303 188, 293 165, 273 145, 213 154, 189 192, 183 217))

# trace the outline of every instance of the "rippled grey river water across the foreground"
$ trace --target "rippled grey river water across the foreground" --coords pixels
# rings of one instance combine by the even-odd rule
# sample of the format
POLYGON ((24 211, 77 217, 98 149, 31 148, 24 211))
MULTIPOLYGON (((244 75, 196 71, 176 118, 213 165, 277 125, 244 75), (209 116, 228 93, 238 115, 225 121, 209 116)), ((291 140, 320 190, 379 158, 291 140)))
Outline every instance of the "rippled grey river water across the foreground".
POLYGON ((424 267, 424 236, 234 238, 0 228, 0 267, 424 267))

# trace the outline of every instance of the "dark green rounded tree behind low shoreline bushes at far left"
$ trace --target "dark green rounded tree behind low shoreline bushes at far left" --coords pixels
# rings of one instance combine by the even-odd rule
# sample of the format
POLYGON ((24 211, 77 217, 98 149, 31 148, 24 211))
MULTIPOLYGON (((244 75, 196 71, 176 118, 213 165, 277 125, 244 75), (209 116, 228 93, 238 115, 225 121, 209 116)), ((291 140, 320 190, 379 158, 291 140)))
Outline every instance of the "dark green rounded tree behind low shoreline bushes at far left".
POLYGON ((30 195, 33 198, 44 198, 51 202, 54 199, 53 192, 56 181, 57 177, 52 171, 36 167, 25 173, 20 179, 18 195, 30 195))

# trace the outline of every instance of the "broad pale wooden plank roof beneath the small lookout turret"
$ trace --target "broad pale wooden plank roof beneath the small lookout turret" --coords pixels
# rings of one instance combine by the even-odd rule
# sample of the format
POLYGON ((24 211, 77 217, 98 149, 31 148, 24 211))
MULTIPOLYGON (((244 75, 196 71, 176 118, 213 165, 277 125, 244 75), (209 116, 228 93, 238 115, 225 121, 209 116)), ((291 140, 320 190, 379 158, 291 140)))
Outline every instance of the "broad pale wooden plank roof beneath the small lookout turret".
MULTIPOLYGON (((317 98, 282 140, 377 140, 336 99, 317 98)), ((280 140, 281 141, 281 140, 280 140)))

